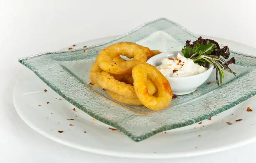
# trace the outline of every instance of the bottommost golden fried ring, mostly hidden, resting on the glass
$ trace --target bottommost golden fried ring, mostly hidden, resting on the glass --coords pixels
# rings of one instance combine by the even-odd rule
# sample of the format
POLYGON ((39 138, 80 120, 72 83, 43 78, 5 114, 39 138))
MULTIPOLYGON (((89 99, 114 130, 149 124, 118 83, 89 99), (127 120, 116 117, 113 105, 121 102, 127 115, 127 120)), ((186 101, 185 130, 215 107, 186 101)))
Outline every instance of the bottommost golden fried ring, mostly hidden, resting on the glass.
POLYGON ((107 89, 107 93, 116 101, 129 104, 129 105, 136 105, 136 106, 143 105, 138 98, 127 98, 127 97, 121 96, 120 94, 116 94, 113 91, 110 91, 108 89, 107 89))

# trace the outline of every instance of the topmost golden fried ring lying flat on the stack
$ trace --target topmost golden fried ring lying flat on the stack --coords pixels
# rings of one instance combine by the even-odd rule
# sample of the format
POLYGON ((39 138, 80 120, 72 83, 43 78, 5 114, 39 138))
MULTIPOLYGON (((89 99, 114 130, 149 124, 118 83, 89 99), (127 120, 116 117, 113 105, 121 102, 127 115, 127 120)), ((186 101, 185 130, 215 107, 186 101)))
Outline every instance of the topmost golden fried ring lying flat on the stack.
POLYGON ((96 62, 100 69, 111 74, 131 74, 136 64, 145 63, 146 52, 132 42, 118 42, 100 51, 96 62), (124 55, 133 58, 131 61, 114 62, 113 58, 124 55))

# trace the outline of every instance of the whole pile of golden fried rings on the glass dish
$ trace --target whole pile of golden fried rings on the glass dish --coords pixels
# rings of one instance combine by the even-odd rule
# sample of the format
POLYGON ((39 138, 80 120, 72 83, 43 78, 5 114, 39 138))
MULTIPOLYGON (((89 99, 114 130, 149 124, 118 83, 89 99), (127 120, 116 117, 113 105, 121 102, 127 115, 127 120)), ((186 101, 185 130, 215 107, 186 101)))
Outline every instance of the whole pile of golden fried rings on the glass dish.
POLYGON ((161 72, 146 64, 147 59, 159 53, 132 42, 110 45, 100 51, 92 65, 92 84, 107 89, 107 93, 116 101, 145 105, 153 110, 164 109, 172 99, 171 86, 161 72), (133 60, 127 61, 120 55, 133 60))

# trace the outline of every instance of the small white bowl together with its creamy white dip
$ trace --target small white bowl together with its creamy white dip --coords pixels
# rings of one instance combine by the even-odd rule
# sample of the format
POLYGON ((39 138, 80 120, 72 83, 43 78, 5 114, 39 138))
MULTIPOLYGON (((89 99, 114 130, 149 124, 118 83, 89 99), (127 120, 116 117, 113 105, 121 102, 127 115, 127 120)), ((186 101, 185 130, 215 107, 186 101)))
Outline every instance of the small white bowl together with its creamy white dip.
POLYGON ((166 77, 166 79, 168 79, 172 87, 172 94, 177 94, 177 95, 189 94, 195 91, 200 85, 202 85, 210 77, 210 74, 212 73, 214 66, 210 64, 209 67, 207 67, 208 69, 206 67, 202 67, 199 65, 195 66, 192 63, 190 63, 191 59, 184 59, 184 57, 180 55, 177 57, 177 59, 181 61, 175 60, 175 57, 178 54, 182 54, 182 52, 172 51, 172 52, 160 53, 148 59, 147 63, 160 69, 160 72, 164 74, 164 76, 166 77), (166 58, 170 58, 170 61, 174 59, 173 64, 175 63, 177 66, 169 65, 168 67, 167 65, 166 67, 166 65, 164 65, 166 63, 162 64, 161 62, 163 59, 164 59, 164 62, 167 62, 167 60, 165 61, 166 58), (187 63, 187 66, 185 66, 186 62, 189 62, 187 63), (182 63, 183 63, 183 66, 182 66, 182 63), (189 71, 190 68, 191 68, 191 71, 189 71), (171 71, 171 72, 168 72, 168 71, 171 71), (179 75, 182 77, 178 77, 179 75))

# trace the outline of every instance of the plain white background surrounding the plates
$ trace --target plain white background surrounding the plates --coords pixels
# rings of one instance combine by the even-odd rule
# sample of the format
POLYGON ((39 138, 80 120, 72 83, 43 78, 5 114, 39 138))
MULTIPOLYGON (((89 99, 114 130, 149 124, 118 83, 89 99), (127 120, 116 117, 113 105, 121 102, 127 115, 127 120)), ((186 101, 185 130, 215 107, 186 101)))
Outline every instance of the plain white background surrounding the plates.
POLYGON ((18 58, 77 42, 120 35, 159 17, 201 35, 255 47, 255 0, 0 0, 0 163, 177 162, 253 163, 256 143, 211 155, 175 160, 101 156, 55 143, 29 128, 12 104, 23 69, 18 58))

